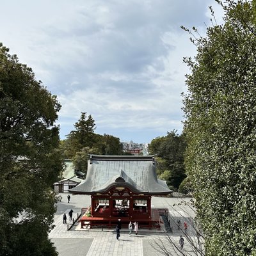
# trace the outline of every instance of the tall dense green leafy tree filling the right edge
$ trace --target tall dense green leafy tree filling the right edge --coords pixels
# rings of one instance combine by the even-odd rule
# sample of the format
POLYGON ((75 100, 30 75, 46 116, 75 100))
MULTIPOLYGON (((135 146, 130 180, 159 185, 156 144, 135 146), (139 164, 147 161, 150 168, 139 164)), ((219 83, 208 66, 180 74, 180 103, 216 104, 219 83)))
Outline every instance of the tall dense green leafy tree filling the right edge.
POLYGON ((255 1, 218 2, 225 23, 186 59, 186 170, 207 255, 256 255, 255 1))

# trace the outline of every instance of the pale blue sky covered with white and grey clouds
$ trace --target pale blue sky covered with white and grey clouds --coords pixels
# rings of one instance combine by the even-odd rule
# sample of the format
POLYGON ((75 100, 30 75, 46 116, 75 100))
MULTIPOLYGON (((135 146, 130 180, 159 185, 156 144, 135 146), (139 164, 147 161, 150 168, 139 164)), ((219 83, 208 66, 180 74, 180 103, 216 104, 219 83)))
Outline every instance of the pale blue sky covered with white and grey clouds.
POLYGON ((202 35, 214 0, 9 0, 1 2, 0 42, 57 95, 61 139, 81 112, 96 133, 149 143, 182 132, 182 63, 195 56, 180 26, 202 35))

